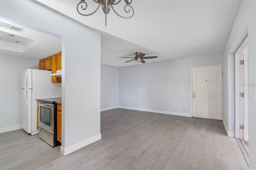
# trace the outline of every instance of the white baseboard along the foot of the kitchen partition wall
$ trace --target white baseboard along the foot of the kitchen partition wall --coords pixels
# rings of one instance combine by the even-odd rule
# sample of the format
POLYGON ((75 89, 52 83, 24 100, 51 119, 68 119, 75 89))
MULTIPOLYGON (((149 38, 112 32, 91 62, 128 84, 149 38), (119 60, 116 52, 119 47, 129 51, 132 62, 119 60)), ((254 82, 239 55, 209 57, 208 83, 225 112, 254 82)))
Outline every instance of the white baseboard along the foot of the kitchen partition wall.
POLYGON ((101 134, 97 134, 95 136, 92 136, 88 139, 82 140, 81 142, 72 144, 71 146, 68 147, 63 147, 60 146, 60 153, 66 156, 67 154, 70 154, 80 148, 83 148, 84 146, 87 146, 88 144, 91 144, 93 142, 96 142, 97 140, 101 139, 101 134))

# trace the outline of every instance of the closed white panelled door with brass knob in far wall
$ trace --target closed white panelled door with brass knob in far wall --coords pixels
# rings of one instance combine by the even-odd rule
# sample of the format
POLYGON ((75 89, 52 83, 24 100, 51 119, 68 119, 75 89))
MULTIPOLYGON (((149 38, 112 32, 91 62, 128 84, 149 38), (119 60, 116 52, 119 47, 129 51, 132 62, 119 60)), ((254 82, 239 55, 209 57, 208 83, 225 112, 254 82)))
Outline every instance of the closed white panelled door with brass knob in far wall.
POLYGON ((193 117, 222 120, 222 66, 192 69, 193 117))

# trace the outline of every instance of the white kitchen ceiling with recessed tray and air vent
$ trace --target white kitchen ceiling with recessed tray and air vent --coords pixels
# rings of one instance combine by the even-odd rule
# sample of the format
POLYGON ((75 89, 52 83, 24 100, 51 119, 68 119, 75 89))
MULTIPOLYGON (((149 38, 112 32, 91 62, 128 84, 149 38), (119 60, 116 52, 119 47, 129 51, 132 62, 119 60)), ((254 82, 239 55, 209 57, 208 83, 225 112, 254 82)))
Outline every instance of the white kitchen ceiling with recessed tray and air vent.
POLYGON ((0 53, 42 59, 61 51, 61 39, 0 18, 0 53), (22 32, 17 29, 23 28, 22 32), (11 28, 11 29, 9 29, 11 28))

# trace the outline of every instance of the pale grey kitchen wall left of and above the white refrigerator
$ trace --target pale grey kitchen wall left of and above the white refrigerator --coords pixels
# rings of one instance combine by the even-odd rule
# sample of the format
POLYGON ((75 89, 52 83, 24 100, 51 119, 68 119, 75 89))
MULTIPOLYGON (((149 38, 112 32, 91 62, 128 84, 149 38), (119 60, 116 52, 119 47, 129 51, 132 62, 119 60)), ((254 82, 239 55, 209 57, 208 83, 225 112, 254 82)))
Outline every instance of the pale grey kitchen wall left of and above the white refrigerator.
POLYGON ((20 71, 39 59, 0 54, 0 128, 20 125, 20 71))

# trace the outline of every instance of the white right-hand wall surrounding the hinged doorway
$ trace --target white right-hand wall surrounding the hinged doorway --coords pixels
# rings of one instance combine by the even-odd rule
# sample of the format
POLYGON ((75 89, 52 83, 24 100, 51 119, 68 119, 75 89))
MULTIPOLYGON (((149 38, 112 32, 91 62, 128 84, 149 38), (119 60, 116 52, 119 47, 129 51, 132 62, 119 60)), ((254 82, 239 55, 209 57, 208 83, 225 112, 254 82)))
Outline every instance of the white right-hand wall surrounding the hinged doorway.
MULTIPOLYGON (((249 169, 256 169, 256 1, 242 0, 223 52, 224 121, 230 131, 235 130, 234 105, 234 51, 239 39, 244 38, 244 24, 248 23, 248 87, 249 92, 249 169), (231 67, 230 67, 231 66, 231 67)), ((247 28, 246 28, 247 29, 247 28)), ((239 42, 238 42, 239 43, 239 42)))

